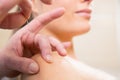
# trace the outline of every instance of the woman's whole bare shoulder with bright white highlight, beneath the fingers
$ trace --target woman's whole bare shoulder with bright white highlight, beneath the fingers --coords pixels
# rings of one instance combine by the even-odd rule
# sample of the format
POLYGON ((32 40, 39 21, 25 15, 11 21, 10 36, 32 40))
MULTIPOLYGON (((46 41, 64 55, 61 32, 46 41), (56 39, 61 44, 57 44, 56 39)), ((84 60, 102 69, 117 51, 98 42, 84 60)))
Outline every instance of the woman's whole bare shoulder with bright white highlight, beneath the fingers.
POLYGON ((53 63, 45 62, 39 54, 33 57, 40 65, 39 73, 22 75, 22 80, 116 80, 113 76, 92 68, 70 56, 53 55, 53 63))

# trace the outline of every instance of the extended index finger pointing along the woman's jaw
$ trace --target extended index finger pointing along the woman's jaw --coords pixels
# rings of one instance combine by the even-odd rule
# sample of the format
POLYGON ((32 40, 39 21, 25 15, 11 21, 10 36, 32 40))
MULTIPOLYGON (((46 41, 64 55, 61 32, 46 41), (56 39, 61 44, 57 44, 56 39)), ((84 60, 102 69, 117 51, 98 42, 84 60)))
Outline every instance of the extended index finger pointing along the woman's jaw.
POLYGON ((26 25, 24 27, 24 30, 29 30, 30 32, 38 33, 41 30, 41 28, 43 28, 46 24, 62 16, 64 14, 64 11, 64 8, 57 8, 53 11, 40 15, 33 21, 31 21, 28 25, 26 25))

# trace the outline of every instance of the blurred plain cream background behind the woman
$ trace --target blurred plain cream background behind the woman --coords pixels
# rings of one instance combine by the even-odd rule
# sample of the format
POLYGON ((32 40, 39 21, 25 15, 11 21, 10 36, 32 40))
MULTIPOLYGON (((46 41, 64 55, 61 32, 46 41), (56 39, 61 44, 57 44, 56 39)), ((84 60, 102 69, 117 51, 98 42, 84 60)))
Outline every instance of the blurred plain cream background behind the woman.
MULTIPOLYGON (((93 0, 92 9, 91 31, 74 38, 76 55, 80 61, 120 78, 120 0, 93 0)), ((0 48, 11 33, 0 30, 0 48)))

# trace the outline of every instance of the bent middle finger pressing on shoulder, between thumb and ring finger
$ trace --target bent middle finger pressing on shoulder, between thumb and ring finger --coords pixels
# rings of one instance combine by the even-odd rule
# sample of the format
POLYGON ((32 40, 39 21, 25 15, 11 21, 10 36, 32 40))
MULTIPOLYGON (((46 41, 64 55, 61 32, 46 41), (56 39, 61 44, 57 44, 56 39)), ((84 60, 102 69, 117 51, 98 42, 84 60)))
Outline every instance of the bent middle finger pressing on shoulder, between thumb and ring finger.
POLYGON ((35 37, 35 45, 38 45, 41 56, 47 62, 52 62, 51 45, 47 37, 37 34, 35 37))

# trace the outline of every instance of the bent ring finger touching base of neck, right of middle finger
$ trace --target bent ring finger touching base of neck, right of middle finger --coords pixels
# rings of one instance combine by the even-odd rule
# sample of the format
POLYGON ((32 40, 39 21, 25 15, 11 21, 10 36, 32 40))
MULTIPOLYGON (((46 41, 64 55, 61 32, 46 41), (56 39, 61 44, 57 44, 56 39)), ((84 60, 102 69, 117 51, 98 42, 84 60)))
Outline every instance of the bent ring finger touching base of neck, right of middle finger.
MULTIPOLYGON (((57 39, 53 38, 53 37, 49 37, 49 41, 51 43, 51 45, 56 49, 56 51, 61 55, 61 56, 65 56, 67 54, 67 51, 64 47, 64 45, 57 39)), ((68 44, 66 44, 67 46, 68 44)))

